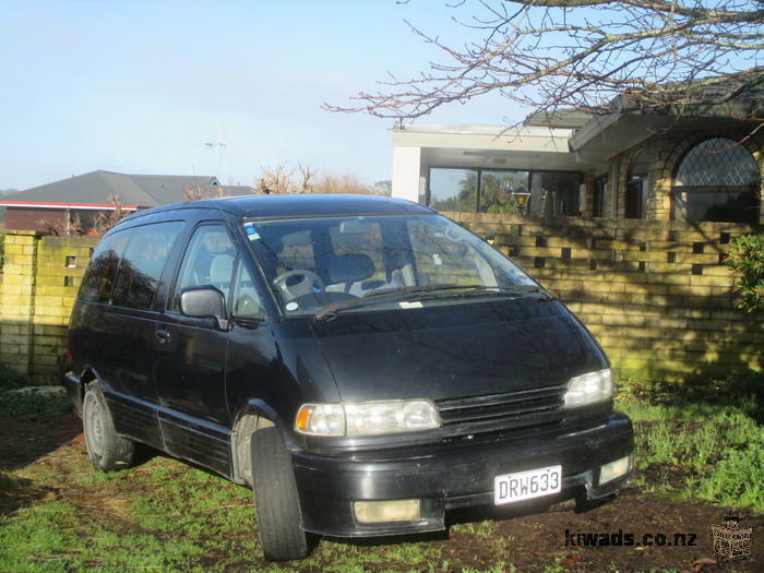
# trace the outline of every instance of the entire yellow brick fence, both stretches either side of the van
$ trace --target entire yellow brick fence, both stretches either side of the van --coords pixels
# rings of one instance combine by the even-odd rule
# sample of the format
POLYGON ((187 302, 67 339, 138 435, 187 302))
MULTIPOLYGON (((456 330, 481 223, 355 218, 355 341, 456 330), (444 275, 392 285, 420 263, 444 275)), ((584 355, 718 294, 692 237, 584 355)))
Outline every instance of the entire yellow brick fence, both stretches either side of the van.
MULTIPOLYGON (((749 226, 446 215, 492 239, 557 294, 621 375, 689 380, 764 367, 762 317, 736 308, 732 277, 721 264, 727 244, 749 226)), ((71 307, 95 242, 5 236, 0 362, 38 383, 61 373, 71 307)))

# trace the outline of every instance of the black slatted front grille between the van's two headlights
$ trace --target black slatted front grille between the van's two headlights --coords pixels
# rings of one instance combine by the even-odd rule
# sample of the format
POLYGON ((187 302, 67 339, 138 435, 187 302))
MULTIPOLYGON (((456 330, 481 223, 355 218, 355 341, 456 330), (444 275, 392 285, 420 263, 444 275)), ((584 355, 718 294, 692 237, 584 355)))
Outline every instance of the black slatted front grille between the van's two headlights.
POLYGON ((435 402, 443 426, 474 422, 502 422, 553 415, 563 405, 566 385, 521 390, 468 398, 435 402))

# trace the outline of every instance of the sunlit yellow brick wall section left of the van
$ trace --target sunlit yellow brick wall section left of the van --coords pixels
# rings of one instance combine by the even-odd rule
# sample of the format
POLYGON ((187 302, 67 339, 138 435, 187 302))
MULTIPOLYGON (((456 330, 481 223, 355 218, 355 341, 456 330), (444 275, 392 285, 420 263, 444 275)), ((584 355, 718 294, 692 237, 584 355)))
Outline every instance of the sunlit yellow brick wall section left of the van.
POLYGON ((0 283, 0 362, 37 383, 55 383, 65 361, 69 315, 93 237, 5 235, 0 283))

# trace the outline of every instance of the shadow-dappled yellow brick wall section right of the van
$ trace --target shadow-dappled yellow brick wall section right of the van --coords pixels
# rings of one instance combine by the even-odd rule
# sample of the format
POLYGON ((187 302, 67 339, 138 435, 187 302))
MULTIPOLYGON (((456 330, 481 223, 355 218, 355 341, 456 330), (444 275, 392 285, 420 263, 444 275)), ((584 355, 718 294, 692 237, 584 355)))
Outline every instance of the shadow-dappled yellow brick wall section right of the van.
POLYGON ((620 375, 669 381, 764 370, 764 322, 719 264, 747 225, 444 213, 558 295, 620 375))

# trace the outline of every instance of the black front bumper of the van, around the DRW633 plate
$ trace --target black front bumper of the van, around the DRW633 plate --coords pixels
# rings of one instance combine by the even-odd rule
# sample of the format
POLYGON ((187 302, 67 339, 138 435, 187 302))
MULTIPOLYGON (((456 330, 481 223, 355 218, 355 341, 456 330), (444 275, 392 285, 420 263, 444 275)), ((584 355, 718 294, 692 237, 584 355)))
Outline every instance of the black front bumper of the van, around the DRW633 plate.
POLYGON ((294 452, 293 463, 307 532, 368 537, 443 529, 446 510, 493 503, 496 476, 558 464, 563 493, 606 497, 630 474, 597 486, 599 467, 631 454, 633 445, 631 421, 613 413, 593 427, 562 434, 462 441, 403 449, 405 454, 294 452), (402 499, 421 500, 418 521, 361 524, 355 518, 354 501, 402 499))

